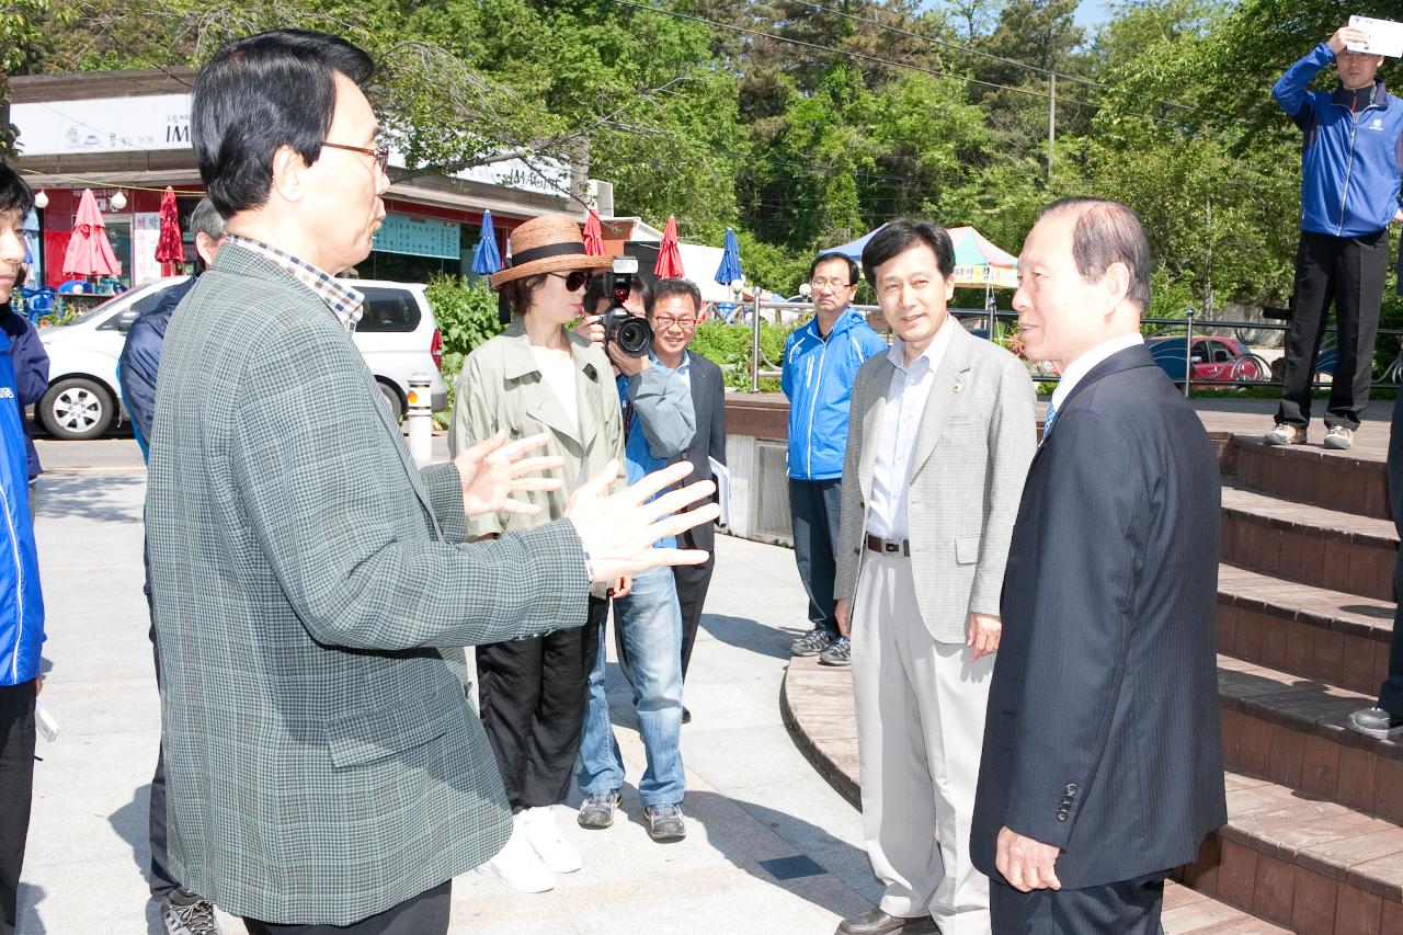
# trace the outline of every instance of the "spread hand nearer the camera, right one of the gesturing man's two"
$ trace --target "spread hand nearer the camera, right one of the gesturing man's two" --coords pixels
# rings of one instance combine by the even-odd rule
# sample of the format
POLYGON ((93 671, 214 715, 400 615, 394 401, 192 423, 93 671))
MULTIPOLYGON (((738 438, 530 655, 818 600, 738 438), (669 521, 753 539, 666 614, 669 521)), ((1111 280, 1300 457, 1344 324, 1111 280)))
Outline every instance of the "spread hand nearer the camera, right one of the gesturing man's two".
POLYGON ((619 462, 612 460, 581 484, 570 500, 565 517, 574 524, 575 533, 589 555, 595 581, 613 581, 659 566, 702 564, 707 560, 709 553, 702 549, 652 548, 658 539, 714 522, 720 515, 721 508, 714 503, 682 512, 711 496, 716 484, 710 480, 654 496, 686 480, 690 473, 692 463, 683 460, 609 494, 609 486, 619 476, 619 462))

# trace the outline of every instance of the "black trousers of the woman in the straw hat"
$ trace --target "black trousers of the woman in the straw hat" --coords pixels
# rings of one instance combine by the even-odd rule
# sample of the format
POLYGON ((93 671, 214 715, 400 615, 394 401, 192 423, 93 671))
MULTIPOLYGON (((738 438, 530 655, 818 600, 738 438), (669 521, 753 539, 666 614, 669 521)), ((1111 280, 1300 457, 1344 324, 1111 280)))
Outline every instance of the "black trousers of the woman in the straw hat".
POLYGON ((477 647, 483 727, 512 811, 565 800, 607 609, 592 597, 584 626, 477 647))

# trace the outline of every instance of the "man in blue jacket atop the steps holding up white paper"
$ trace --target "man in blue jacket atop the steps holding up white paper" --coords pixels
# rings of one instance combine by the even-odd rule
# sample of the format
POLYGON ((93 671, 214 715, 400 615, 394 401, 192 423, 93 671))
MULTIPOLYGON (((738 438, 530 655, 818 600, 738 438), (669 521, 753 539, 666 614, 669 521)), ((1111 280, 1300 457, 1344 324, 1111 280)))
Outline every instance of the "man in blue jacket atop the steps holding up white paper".
POLYGON ((1326 406, 1324 446, 1354 444, 1360 414, 1369 402, 1374 337, 1389 267, 1389 222, 1399 208, 1403 163, 1403 101, 1376 80, 1383 56, 1350 52, 1368 37, 1341 27, 1287 69, 1271 95, 1303 135, 1301 149, 1301 243, 1296 285, 1277 425, 1263 441, 1299 445, 1310 424, 1310 378, 1334 299, 1340 350, 1326 406), (1306 86, 1331 60, 1340 76, 1334 91, 1306 86))

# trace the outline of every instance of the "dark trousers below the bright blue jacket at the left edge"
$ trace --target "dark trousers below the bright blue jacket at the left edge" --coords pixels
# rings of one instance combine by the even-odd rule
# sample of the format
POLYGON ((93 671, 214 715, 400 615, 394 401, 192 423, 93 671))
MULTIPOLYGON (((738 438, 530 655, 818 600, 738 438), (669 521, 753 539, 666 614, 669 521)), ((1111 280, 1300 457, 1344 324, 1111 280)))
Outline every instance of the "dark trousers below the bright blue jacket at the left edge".
POLYGON ((13 935, 34 799, 35 679, 0 687, 0 935, 13 935))

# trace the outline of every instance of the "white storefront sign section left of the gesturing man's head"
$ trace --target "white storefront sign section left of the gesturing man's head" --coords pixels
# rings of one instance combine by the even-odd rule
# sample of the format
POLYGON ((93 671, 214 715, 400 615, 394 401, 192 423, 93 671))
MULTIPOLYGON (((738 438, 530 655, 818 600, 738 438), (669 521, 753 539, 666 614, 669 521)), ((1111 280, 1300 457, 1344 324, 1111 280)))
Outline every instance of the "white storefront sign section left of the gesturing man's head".
POLYGON ((22 156, 189 149, 189 94, 11 104, 22 156))

